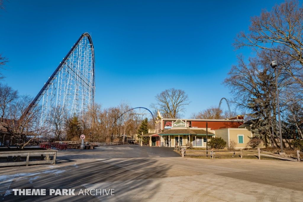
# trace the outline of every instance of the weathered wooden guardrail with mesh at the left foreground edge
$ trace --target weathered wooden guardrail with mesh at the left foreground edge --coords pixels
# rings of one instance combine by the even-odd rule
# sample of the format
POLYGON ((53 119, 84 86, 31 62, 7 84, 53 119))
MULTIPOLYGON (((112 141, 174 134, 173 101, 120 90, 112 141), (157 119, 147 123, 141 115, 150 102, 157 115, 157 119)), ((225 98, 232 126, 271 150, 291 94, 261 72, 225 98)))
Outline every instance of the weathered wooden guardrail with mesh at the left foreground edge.
POLYGON ((0 167, 56 164, 56 154, 54 149, 0 152, 0 167))

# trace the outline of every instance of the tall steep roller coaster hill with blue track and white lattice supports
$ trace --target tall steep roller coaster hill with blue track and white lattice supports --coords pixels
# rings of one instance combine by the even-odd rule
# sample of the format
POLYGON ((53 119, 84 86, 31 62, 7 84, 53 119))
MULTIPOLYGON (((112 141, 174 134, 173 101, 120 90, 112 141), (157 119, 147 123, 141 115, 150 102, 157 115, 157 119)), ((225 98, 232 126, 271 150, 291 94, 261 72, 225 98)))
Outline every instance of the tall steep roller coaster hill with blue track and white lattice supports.
POLYGON ((74 43, 59 66, 48 78, 24 115, 42 106, 41 122, 49 120, 57 106, 68 115, 80 115, 95 102, 95 53, 92 38, 84 33, 74 43))

